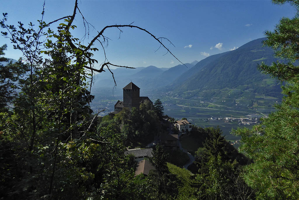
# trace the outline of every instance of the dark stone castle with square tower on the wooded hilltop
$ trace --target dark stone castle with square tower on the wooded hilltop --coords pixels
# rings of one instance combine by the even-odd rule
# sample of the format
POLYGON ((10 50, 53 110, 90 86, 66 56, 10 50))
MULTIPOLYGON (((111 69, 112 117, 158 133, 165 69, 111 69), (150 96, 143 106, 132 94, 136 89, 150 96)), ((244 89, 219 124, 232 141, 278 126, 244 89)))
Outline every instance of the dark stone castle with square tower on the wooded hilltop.
POLYGON ((148 100, 152 104, 149 97, 140 97, 140 88, 131 81, 123 88, 123 101, 118 100, 114 105, 114 112, 109 114, 118 114, 124 107, 130 110, 132 107, 139 109, 140 104, 144 103, 145 100, 148 100))

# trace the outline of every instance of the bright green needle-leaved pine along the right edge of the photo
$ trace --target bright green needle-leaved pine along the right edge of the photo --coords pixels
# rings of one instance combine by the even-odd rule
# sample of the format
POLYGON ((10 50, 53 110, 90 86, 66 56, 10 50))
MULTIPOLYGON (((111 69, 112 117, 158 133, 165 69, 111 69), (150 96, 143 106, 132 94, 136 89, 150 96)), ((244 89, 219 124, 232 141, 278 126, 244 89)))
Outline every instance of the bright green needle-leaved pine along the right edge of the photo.
MULTIPOLYGON (((275 4, 289 2, 299 8, 298 1, 274 0, 275 4)), ((257 199, 298 199, 299 198, 299 18, 282 18, 274 31, 265 31, 268 40, 265 46, 275 50, 277 58, 285 58, 270 66, 259 65, 262 73, 285 81, 282 86, 283 101, 277 109, 262 120, 261 125, 251 130, 238 129, 234 133, 242 137, 244 151, 254 160, 244 168, 244 180, 257 191, 257 199), (295 62, 296 61, 296 62, 295 62)))

